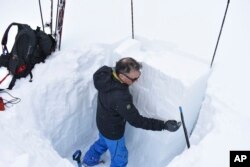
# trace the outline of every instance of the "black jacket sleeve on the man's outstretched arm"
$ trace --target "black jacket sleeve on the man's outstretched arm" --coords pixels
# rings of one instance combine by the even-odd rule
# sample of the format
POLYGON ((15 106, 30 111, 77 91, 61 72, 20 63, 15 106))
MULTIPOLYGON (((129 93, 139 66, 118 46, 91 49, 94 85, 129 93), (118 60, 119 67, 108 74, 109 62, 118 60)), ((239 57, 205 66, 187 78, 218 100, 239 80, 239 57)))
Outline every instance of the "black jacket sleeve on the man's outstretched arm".
POLYGON ((160 131, 164 129, 164 121, 146 118, 139 114, 133 104, 130 93, 122 93, 116 99, 115 110, 132 126, 146 130, 160 131))

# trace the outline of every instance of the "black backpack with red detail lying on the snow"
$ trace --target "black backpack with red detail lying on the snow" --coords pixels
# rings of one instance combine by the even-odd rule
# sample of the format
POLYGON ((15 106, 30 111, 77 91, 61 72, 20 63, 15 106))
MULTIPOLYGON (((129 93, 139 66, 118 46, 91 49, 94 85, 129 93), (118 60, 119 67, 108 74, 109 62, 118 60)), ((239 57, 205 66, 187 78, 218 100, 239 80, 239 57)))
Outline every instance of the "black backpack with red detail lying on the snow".
POLYGON ((51 35, 48 35, 37 27, 33 30, 27 24, 12 23, 6 29, 3 38, 3 54, 0 57, 0 66, 7 67, 13 75, 8 89, 12 89, 16 79, 30 75, 35 64, 44 62, 45 59, 55 51, 56 42, 51 35), (7 41, 10 28, 15 25, 18 31, 11 52, 8 51, 7 41))

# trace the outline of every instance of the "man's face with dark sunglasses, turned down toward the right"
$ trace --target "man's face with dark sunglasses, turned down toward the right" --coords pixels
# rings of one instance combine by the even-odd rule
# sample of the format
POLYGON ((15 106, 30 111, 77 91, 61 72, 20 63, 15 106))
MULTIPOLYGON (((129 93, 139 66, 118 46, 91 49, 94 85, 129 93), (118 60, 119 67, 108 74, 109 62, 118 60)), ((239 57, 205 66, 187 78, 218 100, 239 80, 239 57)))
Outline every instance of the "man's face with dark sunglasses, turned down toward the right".
POLYGON ((119 74, 119 78, 126 84, 132 85, 135 81, 139 79, 141 75, 140 71, 132 70, 129 73, 119 74))

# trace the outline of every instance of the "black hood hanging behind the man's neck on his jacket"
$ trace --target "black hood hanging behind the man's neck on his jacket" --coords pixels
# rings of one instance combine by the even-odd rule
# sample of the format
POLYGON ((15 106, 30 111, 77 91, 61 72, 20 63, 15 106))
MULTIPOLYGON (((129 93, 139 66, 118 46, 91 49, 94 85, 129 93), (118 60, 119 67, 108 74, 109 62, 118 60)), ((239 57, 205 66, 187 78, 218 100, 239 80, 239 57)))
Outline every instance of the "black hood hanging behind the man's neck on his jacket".
POLYGON ((127 89, 128 85, 121 83, 113 76, 111 67, 103 66, 94 75, 94 85, 98 91, 107 92, 113 89, 127 89))

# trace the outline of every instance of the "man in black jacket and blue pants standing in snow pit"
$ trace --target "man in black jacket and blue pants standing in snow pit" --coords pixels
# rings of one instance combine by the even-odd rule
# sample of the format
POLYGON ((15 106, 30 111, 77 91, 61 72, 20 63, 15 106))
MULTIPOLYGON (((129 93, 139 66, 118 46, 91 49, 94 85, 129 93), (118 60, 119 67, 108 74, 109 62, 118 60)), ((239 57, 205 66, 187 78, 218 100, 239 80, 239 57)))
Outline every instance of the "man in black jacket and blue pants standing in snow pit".
POLYGON ((99 139, 90 147, 83 158, 87 166, 97 165, 101 155, 109 150, 111 167, 125 167, 128 163, 128 151, 125 146, 124 131, 128 122, 134 127, 146 130, 179 129, 181 122, 166 122, 146 118, 139 114, 133 104, 129 85, 139 79, 141 65, 133 58, 127 57, 116 63, 115 69, 103 66, 93 76, 98 90, 96 123, 99 139))

